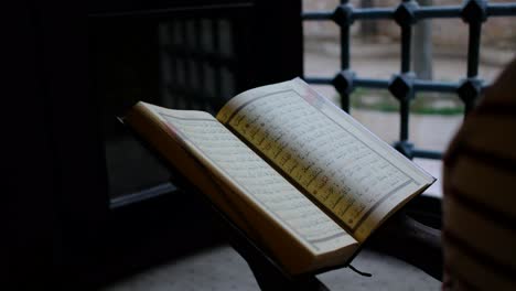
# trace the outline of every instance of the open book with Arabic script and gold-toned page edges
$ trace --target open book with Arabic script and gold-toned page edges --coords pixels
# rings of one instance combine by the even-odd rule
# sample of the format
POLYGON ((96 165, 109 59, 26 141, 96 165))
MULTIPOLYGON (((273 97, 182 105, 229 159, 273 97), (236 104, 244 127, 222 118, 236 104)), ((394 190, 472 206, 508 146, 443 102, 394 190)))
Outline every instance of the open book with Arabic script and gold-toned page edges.
POLYGON ((434 182, 300 78, 125 121, 291 274, 346 262, 434 182))

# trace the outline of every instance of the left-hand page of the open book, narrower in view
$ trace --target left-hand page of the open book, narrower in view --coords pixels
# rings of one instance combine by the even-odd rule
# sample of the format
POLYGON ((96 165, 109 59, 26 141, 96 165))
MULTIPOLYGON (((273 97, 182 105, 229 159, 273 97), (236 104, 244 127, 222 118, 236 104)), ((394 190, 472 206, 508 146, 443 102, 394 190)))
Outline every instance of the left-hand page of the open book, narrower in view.
MULTIPOLYGON (((350 234, 209 114, 147 106, 216 179, 224 181, 232 191, 244 193, 249 204, 271 215, 312 254, 356 244, 350 234)), ((227 205, 232 204, 227 201, 227 205)), ((239 218, 245 219, 245 216, 239 218)))

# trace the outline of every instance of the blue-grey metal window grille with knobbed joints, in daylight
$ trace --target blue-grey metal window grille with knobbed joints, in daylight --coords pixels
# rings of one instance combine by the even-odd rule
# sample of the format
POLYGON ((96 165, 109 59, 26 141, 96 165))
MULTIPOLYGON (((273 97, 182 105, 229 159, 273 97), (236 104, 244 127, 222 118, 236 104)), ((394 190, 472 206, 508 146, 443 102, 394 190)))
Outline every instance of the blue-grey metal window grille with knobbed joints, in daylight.
POLYGON ((492 17, 516 15, 516 3, 488 3, 486 0, 465 0, 462 6, 419 7, 415 0, 402 0, 397 7, 357 9, 342 0, 334 11, 302 13, 303 21, 334 21, 341 31, 341 71, 333 78, 305 76, 311 84, 333 85, 342 98, 342 107, 350 111, 350 95, 356 88, 388 89, 399 101, 400 133, 395 148, 406 157, 441 159, 442 152, 413 147, 409 142, 409 108, 418 91, 453 93, 464 103, 465 115, 473 108, 487 86, 479 77, 479 55, 482 24, 492 17), (423 80, 410 72, 412 25, 419 20, 461 18, 469 25, 467 71, 456 82, 423 80), (390 79, 364 78, 350 67, 351 26, 355 21, 394 20, 400 28, 400 72, 390 79))

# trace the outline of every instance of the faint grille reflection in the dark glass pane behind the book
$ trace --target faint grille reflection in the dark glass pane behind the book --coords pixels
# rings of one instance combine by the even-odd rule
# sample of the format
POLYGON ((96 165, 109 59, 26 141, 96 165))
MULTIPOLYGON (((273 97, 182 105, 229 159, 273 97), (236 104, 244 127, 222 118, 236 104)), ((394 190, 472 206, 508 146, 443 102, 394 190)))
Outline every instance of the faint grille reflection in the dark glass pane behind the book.
POLYGON ((159 26, 164 106, 216 112, 235 94, 235 21, 178 18, 159 26))

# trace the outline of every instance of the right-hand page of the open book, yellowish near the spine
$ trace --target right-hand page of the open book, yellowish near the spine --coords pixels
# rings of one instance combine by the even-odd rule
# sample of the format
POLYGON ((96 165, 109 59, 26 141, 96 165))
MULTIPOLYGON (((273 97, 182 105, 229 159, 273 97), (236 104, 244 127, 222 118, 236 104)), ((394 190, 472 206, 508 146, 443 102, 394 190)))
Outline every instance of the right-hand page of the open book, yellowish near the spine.
POLYGON ((217 119, 358 241, 434 181, 299 78, 245 91, 217 119))

